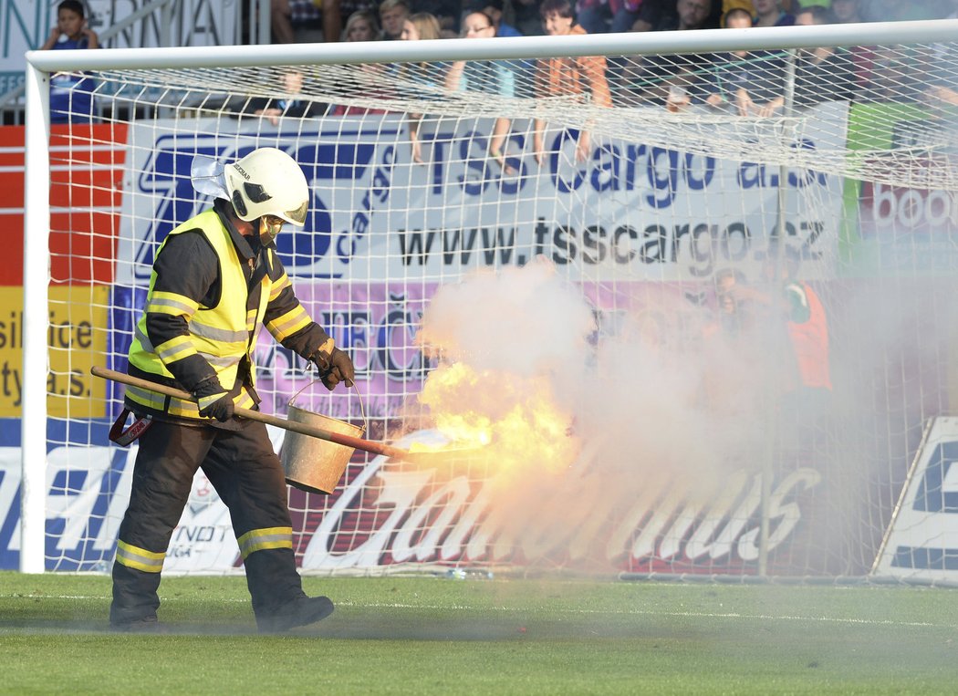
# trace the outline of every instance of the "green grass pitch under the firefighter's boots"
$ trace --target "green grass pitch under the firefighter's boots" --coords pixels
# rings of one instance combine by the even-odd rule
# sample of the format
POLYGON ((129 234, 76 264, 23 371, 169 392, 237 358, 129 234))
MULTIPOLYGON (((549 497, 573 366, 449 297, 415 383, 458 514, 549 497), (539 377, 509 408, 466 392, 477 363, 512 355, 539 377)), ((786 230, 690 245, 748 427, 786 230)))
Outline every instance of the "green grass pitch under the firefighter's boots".
POLYGON ((245 580, 165 577, 163 635, 110 580, 0 573, 4 694, 950 694, 958 590, 307 577, 335 613, 256 633, 245 580))

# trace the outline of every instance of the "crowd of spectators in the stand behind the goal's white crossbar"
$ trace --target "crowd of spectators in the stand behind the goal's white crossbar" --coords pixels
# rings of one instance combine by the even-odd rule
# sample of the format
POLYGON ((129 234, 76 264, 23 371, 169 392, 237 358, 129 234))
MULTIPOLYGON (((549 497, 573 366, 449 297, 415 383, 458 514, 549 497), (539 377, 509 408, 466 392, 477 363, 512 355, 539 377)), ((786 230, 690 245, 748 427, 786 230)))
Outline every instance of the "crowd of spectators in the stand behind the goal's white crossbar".
MULTIPOLYGON (((693 31, 910 20, 958 16, 958 0, 271 0, 274 39, 366 41, 464 36, 693 31)), ((607 106, 664 104, 725 108, 770 116, 821 101, 901 101, 912 80, 900 56, 880 49, 802 50, 795 58, 794 99, 787 104, 785 52, 727 55, 554 58, 478 68, 460 62, 445 87, 483 84, 501 96, 572 95, 607 106), (886 63, 896 63, 891 71, 886 63), (896 72, 897 71, 897 72, 896 72)), ((913 61, 915 62, 915 61, 913 61)), ((921 70, 927 71, 924 58, 921 70)), ((444 80, 438 80, 442 83, 444 80)), ((953 80, 952 80, 953 81, 953 80)), ((939 90, 948 101, 956 92, 939 90)), ((956 100, 958 101, 958 100, 956 100)), ((415 120, 414 120, 415 122, 415 120)), ((508 122, 497 124, 508 130, 508 122)), ((536 132, 541 130, 537 124, 536 132)), ((497 137, 497 143, 501 138, 497 137)), ((414 133, 415 137, 415 133, 414 133)), ((587 148, 587 137, 581 143, 587 148)), ((497 156, 493 144, 490 154, 497 156)))

